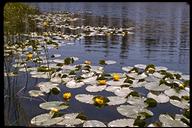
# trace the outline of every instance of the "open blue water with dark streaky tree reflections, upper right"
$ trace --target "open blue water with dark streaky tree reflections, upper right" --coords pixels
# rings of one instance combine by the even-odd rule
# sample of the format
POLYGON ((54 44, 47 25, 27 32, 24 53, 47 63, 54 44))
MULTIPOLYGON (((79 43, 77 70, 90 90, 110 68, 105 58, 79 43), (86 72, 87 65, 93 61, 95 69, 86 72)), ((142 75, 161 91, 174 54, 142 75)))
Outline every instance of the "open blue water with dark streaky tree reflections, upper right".
POLYGON ((154 63, 189 73, 189 5, 187 3, 38 3, 42 11, 87 12, 83 25, 134 26, 122 39, 85 41, 85 50, 105 56, 120 51, 122 64, 154 63), (115 9, 115 11, 114 11, 115 9))

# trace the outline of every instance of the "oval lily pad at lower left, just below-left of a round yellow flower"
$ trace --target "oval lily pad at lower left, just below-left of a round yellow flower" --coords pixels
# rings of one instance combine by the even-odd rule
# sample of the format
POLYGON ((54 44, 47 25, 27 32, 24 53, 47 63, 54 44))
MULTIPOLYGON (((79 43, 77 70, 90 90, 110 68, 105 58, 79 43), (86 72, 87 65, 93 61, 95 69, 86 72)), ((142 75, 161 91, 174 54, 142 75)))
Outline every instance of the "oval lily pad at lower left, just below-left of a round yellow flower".
POLYGON ((63 110, 67 109, 69 106, 61 101, 50 101, 39 104, 39 107, 46 110, 51 110, 52 108, 63 110))

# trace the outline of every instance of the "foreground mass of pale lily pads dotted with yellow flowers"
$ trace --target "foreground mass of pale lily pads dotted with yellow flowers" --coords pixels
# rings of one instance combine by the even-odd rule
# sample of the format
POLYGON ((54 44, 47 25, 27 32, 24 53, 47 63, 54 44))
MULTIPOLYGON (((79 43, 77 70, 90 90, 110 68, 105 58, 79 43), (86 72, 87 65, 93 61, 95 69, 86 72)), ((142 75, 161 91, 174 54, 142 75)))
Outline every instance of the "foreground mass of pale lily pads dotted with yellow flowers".
MULTIPOLYGON (((74 65, 78 57, 66 57, 55 59, 60 55, 54 55, 48 65, 41 63, 37 67, 28 67, 27 62, 32 61, 33 54, 27 54, 26 60, 14 67, 19 71, 28 71, 31 77, 45 78, 48 82, 37 84, 39 90, 30 90, 32 97, 43 97, 48 94, 58 95, 63 93, 62 101, 43 102, 40 108, 48 110, 48 113, 35 116, 31 124, 37 126, 188 126, 189 120, 189 75, 181 72, 170 71, 166 67, 153 64, 137 64, 133 67, 122 67, 123 73, 105 73, 104 65, 115 64, 113 60, 100 60, 99 66, 92 65, 86 60, 83 64, 74 65), (98 120, 87 120, 82 113, 64 114, 60 110, 69 107, 68 101, 73 98, 71 92, 62 92, 61 86, 67 88, 85 87, 84 94, 77 94, 74 98, 77 102, 95 105, 96 108, 117 106, 116 110, 125 118, 117 119, 104 124, 98 120), (147 96, 135 91, 134 88, 144 87, 149 90, 147 96), (108 91, 114 93, 111 96, 94 95, 92 92, 108 91), (160 114, 159 123, 146 124, 145 119, 154 114, 149 110, 157 103, 170 102, 172 105, 183 110, 183 114, 176 114, 171 117, 169 114, 160 114)), ((40 59, 43 60, 41 57, 40 59)), ((44 60, 43 60, 44 61, 44 60)), ((46 61, 46 63, 47 63, 46 61)))

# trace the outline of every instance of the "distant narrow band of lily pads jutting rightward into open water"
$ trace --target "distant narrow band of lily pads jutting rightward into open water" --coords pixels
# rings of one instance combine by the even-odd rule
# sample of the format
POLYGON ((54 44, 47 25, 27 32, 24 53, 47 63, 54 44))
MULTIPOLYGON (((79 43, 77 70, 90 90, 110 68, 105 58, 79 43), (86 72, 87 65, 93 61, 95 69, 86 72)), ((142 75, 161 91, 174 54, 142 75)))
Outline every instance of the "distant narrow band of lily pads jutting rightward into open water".
POLYGON ((79 40, 84 37, 95 36, 127 36, 133 34, 131 31, 134 29, 134 27, 84 26, 79 23, 86 19, 69 12, 42 13, 40 15, 30 15, 30 17, 36 22, 36 27, 40 32, 24 34, 27 37, 41 38, 42 36, 49 36, 54 40, 79 40))

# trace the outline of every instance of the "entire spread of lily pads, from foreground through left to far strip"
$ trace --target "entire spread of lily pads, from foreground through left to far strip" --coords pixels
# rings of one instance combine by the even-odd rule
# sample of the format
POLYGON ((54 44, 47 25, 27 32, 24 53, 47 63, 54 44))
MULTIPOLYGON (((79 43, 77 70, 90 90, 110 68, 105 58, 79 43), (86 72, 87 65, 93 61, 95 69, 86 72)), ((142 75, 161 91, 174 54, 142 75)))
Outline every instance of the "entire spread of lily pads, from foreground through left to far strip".
MULTIPOLYGON (((48 27, 58 26, 70 30, 79 30, 81 36, 103 36, 106 34, 124 35, 132 28, 108 28, 91 26, 71 26, 68 22, 82 20, 72 18, 71 14, 42 14, 33 16, 39 27, 48 30, 48 27), (61 26, 61 24, 64 24, 61 26)), ((128 33, 129 34, 129 33, 128 33)), ((60 54, 49 55, 48 50, 62 46, 65 34, 44 32, 43 35, 31 33, 30 39, 15 44, 4 45, 4 56, 14 57, 12 72, 5 72, 4 76, 19 75, 18 72, 27 72, 33 78, 46 79, 36 85, 38 90, 30 90, 29 95, 43 98, 46 95, 62 93, 62 100, 46 101, 39 104, 47 113, 40 113, 31 119, 36 126, 84 126, 84 127, 133 127, 133 126, 167 126, 187 127, 190 119, 189 75, 168 70, 166 67, 153 64, 136 64, 122 67, 122 72, 106 73, 105 67, 115 64, 113 60, 100 60, 93 65, 90 60, 82 64, 74 64, 78 57, 61 58, 60 54), (59 35, 60 34, 60 35, 59 35), (62 92, 61 87, 70 89, 84 87, 86 92, 73 96, 71 92, 62 92), (136 88, 145 88, 147 95, 136 91, 136 88), (97 92, 107 91, 112 95, 96 95, 97 92), (99 120, 89 120, 84 113, 64 113, 61 110, 70 107, 69 101, 74 98, 77 102, 94 105, 96 109, 115 106, 116 111, 124 118, 103 123, 99 120), (162 113, 159 120, 151 124, 146 119, 154 116, 150 108, 157 104, 170 103, 182 110, 183 114, 169 115, 162 113)), ((78 36, 79 34, 76 34, 78 36)), ((27 35, 26 35, 27 36, 27 35)), ((68 35, 71 36, 71 35, 68 35)), ((65 40, 67 38, 64 38, 65 40)))

